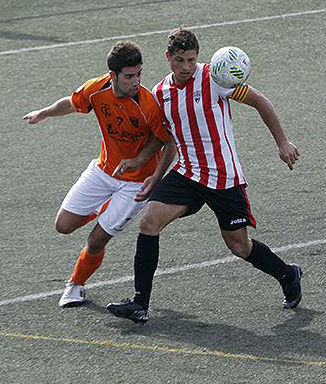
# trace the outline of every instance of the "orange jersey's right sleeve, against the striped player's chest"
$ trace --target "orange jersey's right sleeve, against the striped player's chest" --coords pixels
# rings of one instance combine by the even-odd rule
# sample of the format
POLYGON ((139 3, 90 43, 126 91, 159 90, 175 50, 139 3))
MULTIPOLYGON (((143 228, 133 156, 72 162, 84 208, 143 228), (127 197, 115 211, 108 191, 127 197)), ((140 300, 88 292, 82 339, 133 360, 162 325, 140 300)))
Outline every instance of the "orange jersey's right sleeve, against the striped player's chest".
POLYGON ((148 109, 148 124, 151 131, 159 140, 166 143, 171 139, 167 130, 168 122, 150 91, 146 93, 146 108, 148 109))

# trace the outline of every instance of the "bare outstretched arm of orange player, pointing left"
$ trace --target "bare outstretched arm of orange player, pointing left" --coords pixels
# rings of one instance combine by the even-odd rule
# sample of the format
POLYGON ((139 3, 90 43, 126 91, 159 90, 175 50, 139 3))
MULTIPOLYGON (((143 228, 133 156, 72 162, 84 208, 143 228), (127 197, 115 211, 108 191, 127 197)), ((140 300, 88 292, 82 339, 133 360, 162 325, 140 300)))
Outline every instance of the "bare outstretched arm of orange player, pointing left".
POLYGON ((24 120, 27 120, 29 124, 37 124, 40 121, 50 116, 63 116, 69 113, 75 112, 75 108, 71 101, 71 96, 63 97, 57 100, 48 107, 32 111, 23 116, 24 120))

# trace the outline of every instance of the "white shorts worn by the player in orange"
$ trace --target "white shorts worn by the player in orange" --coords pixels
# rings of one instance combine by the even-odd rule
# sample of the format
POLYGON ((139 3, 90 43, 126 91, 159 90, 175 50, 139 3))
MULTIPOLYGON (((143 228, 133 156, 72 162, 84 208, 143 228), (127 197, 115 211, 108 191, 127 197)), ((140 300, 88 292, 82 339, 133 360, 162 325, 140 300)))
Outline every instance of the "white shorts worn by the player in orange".
POLYGON ((97 160, 92 160, 68 192, 61 208, 76 215, 88 216, 98 213, 110 199, 98 222, 105 232, 114 236, 130 224, 146 204, 146 201, 134 200, 142 184, 117 180, 103 172, 97 166, 97 160))

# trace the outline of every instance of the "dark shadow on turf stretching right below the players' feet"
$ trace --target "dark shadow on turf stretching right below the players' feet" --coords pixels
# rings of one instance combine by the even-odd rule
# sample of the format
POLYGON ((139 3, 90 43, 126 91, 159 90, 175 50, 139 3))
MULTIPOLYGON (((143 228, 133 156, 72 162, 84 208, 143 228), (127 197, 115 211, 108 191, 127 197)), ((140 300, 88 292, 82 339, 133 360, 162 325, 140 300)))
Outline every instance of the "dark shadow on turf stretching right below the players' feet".
POLYGON ((229 353, 264 355, 280 358, 288 354, 303 353, 312 356, 326 356, 326 337, 308 330, 312 320, 324 312, 298 308, 293 317, 271 329, 269 335, 261 335, 246 328, 224 323, 207 323, 178 311, 160 309, 155 317, 144 326, 135 326, 128 320, 119 319, 122 334, 142 336, 160 335, 171 343, 193 345, 208 350, 229 353), (306 329, 305 329, 306 328, 306 329))

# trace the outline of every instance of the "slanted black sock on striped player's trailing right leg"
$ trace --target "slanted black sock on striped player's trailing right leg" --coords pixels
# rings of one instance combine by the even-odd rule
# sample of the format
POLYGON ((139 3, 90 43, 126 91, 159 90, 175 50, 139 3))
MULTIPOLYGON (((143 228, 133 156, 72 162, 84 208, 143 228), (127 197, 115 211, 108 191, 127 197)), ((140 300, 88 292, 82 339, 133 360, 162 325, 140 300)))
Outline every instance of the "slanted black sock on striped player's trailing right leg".
POLYGON ((246 259, 255 268, 275 277, 281 284, 295 278, 293 268, 280 259, 264 243, 252 239, 252 251, 246 259))

